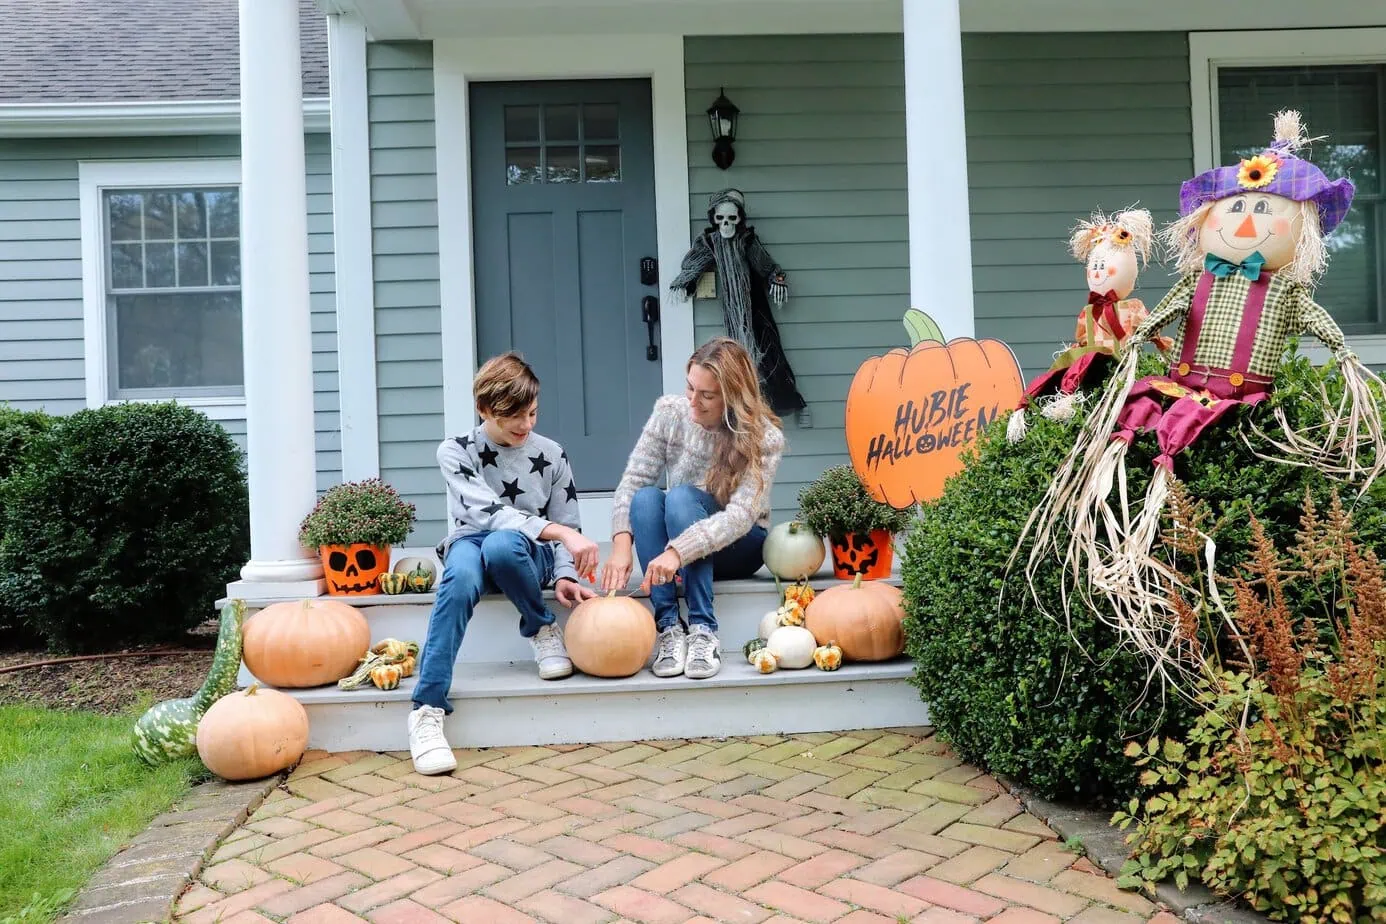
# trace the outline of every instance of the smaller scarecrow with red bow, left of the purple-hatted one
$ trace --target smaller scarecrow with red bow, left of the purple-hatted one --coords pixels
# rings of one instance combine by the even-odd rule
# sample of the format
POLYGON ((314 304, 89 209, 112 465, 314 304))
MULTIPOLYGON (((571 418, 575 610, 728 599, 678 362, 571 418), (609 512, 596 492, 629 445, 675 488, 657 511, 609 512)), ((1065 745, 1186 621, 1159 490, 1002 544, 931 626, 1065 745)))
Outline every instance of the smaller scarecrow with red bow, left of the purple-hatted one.
MULTIPOLYGON (((1078 391, 1098 381, 1127 338, 1149 317, 1145 303, 1131 298, 1141 263, 1150 259, 1153 220, 1148 209, 1127 209, 1110 219, 1102 212, 1080 222, 1069 238, 1069 252, 1087 266, 1088 303, 1078 312, 1074 342, 1058 353, 1053 364, 1037 375, 1006 421, 1006 438, 1026 438, 1026 407, 1044 399, 1041 413, 1051 420, 1069 420, 1084 400, 1078 391)), ((1156 337, 1164 352, 1173 341, 1156 337)))

